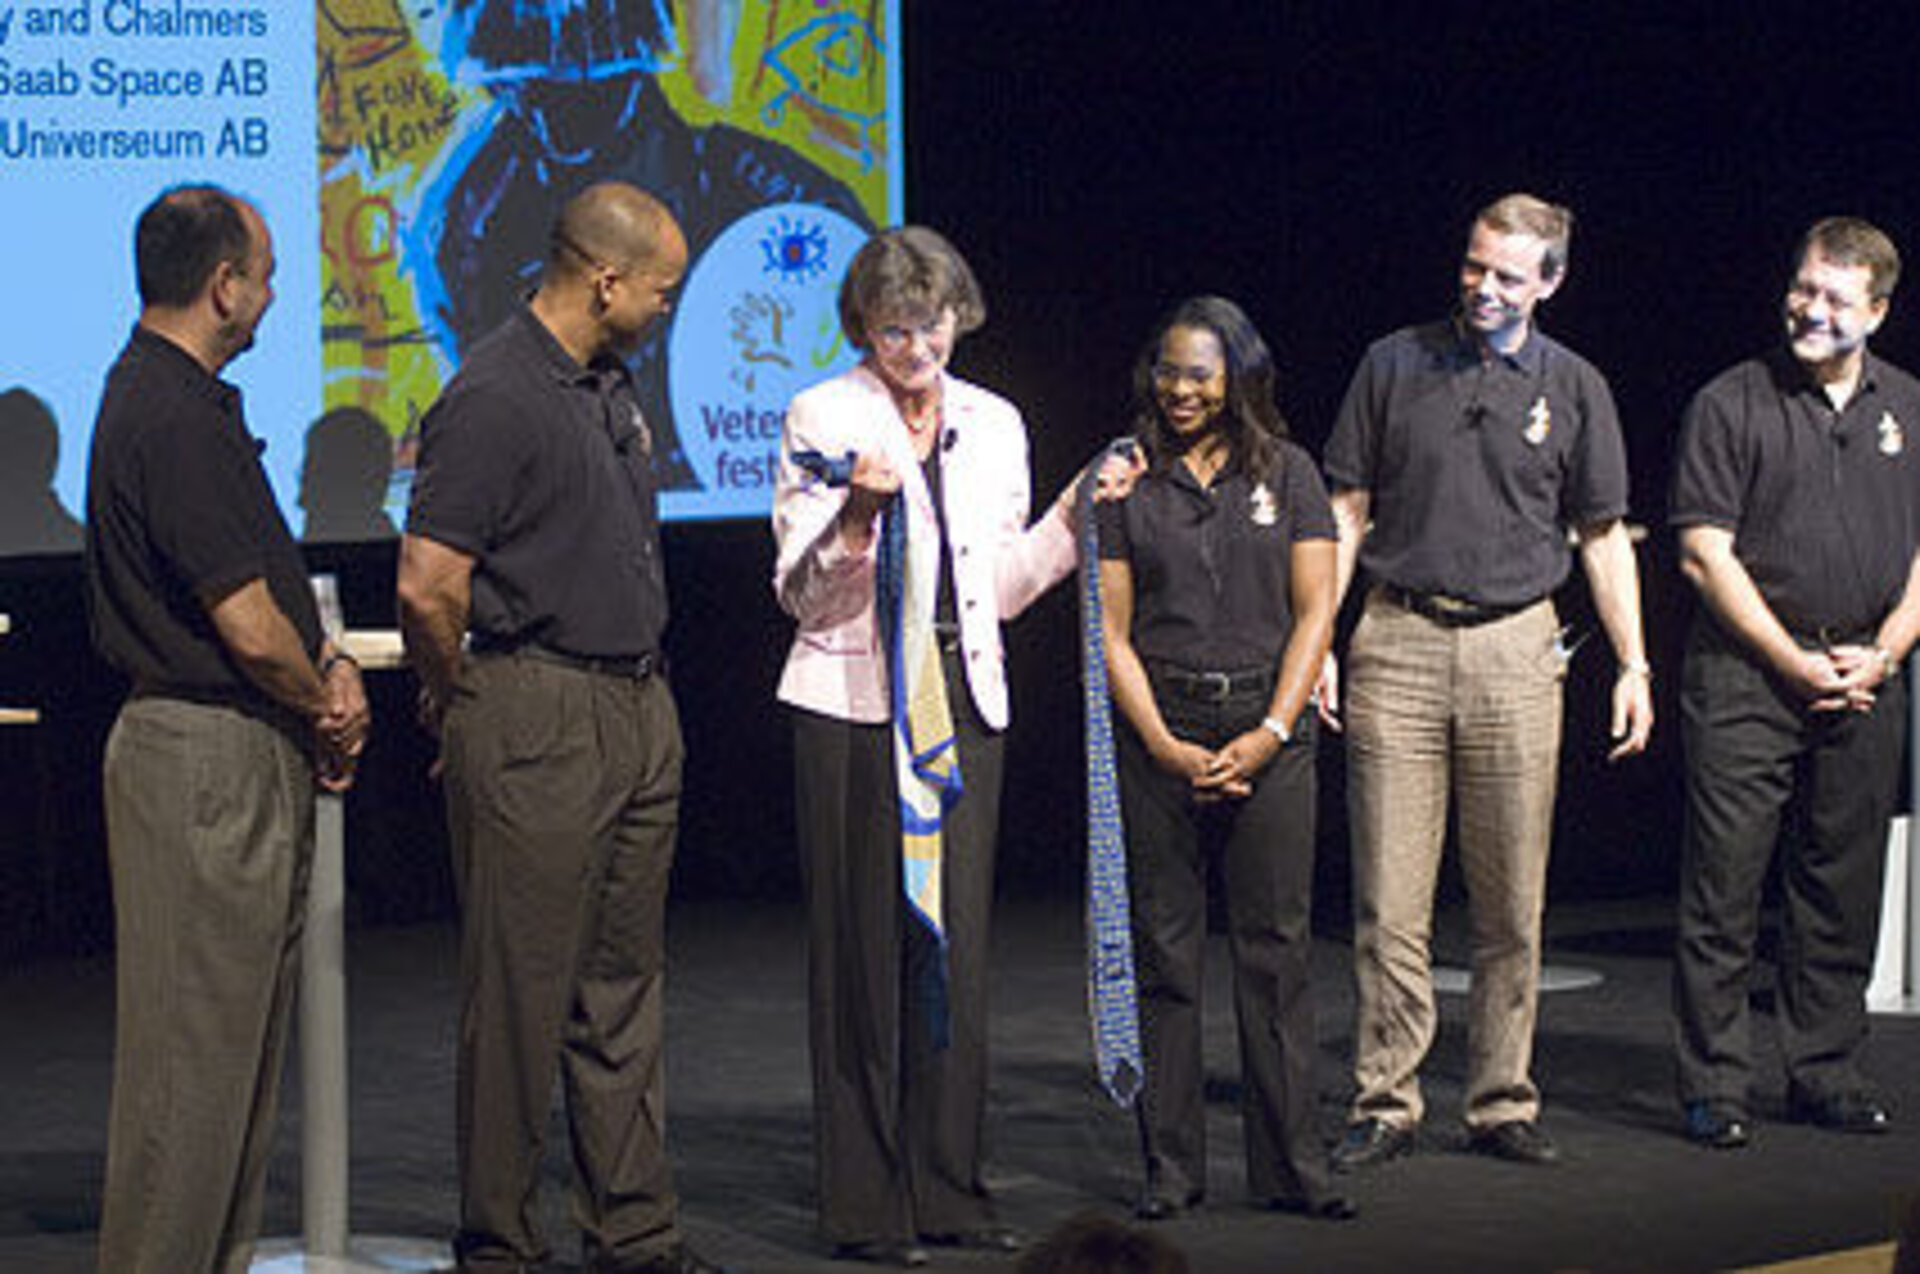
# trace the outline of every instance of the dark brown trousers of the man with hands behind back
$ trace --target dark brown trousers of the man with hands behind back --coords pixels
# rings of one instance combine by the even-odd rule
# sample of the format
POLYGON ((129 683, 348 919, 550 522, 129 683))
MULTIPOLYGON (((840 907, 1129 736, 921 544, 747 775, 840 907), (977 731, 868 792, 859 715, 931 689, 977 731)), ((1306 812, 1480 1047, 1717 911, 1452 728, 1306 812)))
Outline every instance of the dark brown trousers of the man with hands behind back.
POLYGON ((662 1028, 682 758, 662 677, 468 662, 445 721, 463 1270, 549 1255, 538 1184, 555 1078, 584 1266, 639 1264, 680 1241, 662 1028))

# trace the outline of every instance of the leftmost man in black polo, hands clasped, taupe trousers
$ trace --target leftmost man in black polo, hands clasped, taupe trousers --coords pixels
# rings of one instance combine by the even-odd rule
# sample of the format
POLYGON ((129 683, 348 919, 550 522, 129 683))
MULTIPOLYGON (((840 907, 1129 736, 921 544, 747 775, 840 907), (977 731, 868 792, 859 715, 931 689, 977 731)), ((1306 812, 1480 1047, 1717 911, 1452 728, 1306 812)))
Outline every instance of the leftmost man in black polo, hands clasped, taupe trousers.
POLYGON ((321 633, 221 368, 273 301, 259 213, 169 190, 134 232, 140 322, 86 484, 94 645, 132 681, 108 737, 117 1040, 102 1274, 248 1268, 313 850, 367 698, 321 633))

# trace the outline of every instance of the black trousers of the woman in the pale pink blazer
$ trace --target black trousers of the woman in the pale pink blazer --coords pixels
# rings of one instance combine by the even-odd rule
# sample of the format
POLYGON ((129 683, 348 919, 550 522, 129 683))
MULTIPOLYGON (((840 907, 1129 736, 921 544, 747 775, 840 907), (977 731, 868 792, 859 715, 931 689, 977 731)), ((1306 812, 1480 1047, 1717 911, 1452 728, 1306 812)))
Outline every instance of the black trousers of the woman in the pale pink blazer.
POLYGON ((943 825, 943 1050, 916 992, 935 950, 902 898, 889 727, 793 714, 814 1176, 820 1232, 831 1243, 906 1241, 993 1220, 981 1159, 1004 737, 973 714, 958 662, 945 668, 964 794, 943 825))

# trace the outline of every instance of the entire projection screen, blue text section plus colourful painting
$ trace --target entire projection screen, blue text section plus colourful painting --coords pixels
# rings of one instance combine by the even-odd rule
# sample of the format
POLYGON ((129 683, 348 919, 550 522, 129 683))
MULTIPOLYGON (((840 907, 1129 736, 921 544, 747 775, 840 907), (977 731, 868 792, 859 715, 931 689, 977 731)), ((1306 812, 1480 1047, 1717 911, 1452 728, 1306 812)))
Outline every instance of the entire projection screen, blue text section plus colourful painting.
POLYGON ((851 361, 847 257, 899 221, 899 0, 0 0, 0 554, 79 545, 100 382, 161 188, 252 198, 278 301, 228 368, 288 522, 388 537, 417 426, 534 284, 553 211, 620 178, 693 263, 636 355, 664 512, 758 516, 764 418, 851 361), (772 255, 770 255, 772 253, 772 255))

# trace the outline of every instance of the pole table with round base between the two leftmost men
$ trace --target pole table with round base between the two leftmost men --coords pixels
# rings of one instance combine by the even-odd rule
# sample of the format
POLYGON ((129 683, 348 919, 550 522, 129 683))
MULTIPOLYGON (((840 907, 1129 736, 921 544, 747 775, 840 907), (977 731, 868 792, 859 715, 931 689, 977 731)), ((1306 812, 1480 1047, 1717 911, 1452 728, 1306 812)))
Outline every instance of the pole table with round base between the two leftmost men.
MULTIPOLYGON (((399 633, 340 633, 363 670, 399 668, 399 633)), ((255 1249, 253 1274, 451 1270, 445 1243, 351 1238, 348 1232, 346 802, 321 792, 313 812, 313 881, 300 950, 300 1216, 301 1239, 255 1249)))

